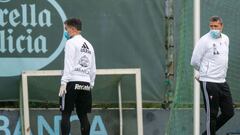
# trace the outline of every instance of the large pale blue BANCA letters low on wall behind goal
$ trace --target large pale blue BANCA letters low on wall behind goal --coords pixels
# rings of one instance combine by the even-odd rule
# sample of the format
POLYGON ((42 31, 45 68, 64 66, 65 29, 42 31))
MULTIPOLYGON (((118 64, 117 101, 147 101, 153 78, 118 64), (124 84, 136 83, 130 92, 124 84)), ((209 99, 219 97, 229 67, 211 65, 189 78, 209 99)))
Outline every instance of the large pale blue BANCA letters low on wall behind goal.
MULTIPOLYGON (((48 124, 44 116, 38 115, 37 116, 37 135, 44 135, 44 133, 48 133, 48 135, 59 135, 60 134, 60 122, 61 122, 61 116, 55 115, 54 121, 53 121, 53 128, 48 124)), ((70 121, 73 122, 75 120, 78 120, 77 115, 72 115, 70 118, 70 121)), ((12 125, 9 123, 9 121, 12 122, 12 120, 9 120, 7 116, 0 115, 0 133, 4 132, 5 135, 11 135, 10 127, 9 125, 12 125)), ((12 132, 13 135, 21 135, 21 126, 20 126, 20 119, 18 119, 15 129, 12 132)), ((12 128, 11 128, 12 129, 12 128)), ((80 131, 80 130, 79 130, 80 131)), ((34 135, 32 131, 30 130, 30 135, 34 135)), ((105 128, 105 125, 102 121, 101 116, 95 115, 91 128, 90 128, 90 135, 108 135, 107 130, 105 128)))

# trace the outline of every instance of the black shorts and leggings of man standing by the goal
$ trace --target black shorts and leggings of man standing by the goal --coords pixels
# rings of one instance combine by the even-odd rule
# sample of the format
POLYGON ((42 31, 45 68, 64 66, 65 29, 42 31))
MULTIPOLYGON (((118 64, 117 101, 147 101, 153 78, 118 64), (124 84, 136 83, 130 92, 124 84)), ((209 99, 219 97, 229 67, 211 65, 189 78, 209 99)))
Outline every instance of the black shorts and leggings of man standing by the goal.
POLYGON ((87 82, 67 83, 67 93, 60 98, 60 110, 62 112, 61 131, 62 135, 69 135, 71 124, 70 117, 76 107, 77 116, 80 120, 81 135, 90 134, 90 123, 87 113, 92 109, 92 94, 90 84, 87 82))

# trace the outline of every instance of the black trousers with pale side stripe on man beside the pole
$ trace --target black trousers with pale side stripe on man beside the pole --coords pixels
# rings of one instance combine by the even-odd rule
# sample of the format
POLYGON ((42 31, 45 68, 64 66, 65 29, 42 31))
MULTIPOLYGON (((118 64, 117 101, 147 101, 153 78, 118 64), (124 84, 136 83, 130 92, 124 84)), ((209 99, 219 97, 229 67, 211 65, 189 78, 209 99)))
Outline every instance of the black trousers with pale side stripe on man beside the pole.
POLYGON ((206 131, 203 135, 215 135, 233 115, 233 101, 227 82, 200 81, 206 111, 206 131), (221 113, 219 113, 219 109, 221 113))

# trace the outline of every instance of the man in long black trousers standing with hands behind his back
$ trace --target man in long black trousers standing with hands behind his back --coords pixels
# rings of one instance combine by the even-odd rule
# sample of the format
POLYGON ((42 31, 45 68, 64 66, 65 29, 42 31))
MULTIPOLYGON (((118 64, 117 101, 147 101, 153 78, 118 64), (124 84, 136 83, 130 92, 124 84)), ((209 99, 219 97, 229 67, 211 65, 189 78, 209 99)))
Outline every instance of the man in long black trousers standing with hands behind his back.
POLYGON ((210 31, 197 42, 191 59, 191 65, 199 71, 199 76, 195 78, 200 81, 207 114, 206 131, 203 135, 215 135, 215 132, 234 115, 232 96, 225 79, 229 38, 222 33, 221 17, 212 16, 209 28, 210 31))

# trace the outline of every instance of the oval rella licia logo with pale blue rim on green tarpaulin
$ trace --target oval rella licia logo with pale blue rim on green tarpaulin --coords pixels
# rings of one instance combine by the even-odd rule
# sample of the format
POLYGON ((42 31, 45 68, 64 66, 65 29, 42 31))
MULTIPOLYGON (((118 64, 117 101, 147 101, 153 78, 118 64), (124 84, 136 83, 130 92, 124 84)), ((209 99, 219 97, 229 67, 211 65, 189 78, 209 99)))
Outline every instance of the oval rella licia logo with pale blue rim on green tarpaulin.
POLYGON ((0 77, 39 70, 54 61, 66 43, 66 20, 56 0, 0 0, 0 77))

